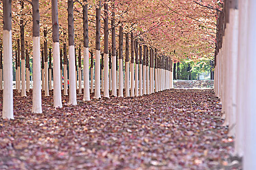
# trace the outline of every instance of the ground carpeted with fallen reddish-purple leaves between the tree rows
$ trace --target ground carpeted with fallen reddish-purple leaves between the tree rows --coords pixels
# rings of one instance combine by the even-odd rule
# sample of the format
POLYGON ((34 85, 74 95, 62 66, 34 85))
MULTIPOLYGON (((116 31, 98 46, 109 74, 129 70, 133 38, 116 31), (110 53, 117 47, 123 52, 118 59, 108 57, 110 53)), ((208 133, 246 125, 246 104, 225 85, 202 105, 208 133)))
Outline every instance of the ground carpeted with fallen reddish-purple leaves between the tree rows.
POLYGON ((78 95, 77 106, 63 96, 61 109, 42 97, 43 114, 31 114, 31 99, 14 90, 15 119, 0 119, 0 169, 215 170, 232 162, 212 89, 91 102, 78 95))

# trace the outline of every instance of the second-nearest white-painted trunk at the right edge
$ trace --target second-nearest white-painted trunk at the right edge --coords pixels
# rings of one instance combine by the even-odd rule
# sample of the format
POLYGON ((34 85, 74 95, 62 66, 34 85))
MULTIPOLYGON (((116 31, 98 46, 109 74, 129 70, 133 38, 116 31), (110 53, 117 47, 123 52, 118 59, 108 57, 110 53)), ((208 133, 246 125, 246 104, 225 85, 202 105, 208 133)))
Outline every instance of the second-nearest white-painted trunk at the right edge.
MULTIPOLYGON (((236 140, 235 140, 235 155, 243 156, 244 154, 244 130, 245 130, 245 113, 246 110, 246 67, 248 59, 244 58, 247 53, 247 25, 248 25, 248 0, 239 0, 239 24, 238 24, 238 58, 237 58, 237 86, 236 86, 236 140)), ((221 50, 219 50, 221 53, 221 50)), ((219 59, 217 60, 219 66, 219 59)), ((218 69, 219 76, 219 69, 218 69)))

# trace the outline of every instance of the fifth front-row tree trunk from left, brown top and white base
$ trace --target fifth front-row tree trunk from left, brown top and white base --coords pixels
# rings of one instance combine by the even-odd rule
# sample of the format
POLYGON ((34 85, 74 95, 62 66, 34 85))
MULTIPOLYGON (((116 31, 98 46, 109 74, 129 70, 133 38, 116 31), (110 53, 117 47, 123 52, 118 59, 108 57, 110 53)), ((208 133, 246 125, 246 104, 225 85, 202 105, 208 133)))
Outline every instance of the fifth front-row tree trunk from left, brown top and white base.
MULTIPOLYGON (((83 0, 83 2, 85 2, 83 5, 83 101, 90 101, 88 4, 87 0, 83 0)), ((93 92, 93 58, 91 61, 91 75, 91 91, 93 92)))

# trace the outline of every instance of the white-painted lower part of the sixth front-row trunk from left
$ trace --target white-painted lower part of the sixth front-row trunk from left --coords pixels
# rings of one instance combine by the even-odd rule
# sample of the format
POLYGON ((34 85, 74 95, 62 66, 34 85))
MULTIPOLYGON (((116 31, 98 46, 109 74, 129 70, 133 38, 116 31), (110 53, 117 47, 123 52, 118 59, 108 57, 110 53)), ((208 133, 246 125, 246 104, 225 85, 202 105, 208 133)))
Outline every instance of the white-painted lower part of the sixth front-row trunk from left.
MULTIPOLYGON (((95 94, 94 98, 99 99, 101 98, 100 96, 100 51, 96 50, 96 55, 95 55, 95 94)), ((102 82, 101 82, 102 83, 102 82)))

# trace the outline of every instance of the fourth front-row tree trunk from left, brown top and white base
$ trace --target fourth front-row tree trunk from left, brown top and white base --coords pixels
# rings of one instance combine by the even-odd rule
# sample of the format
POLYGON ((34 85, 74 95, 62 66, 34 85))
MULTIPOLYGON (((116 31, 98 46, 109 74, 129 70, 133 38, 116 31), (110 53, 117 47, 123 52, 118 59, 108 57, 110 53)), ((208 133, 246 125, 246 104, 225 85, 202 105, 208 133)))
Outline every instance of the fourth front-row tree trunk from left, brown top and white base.
POLYGON ((77 105, 73 0, 68 0, 69 102, 77 105))

